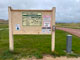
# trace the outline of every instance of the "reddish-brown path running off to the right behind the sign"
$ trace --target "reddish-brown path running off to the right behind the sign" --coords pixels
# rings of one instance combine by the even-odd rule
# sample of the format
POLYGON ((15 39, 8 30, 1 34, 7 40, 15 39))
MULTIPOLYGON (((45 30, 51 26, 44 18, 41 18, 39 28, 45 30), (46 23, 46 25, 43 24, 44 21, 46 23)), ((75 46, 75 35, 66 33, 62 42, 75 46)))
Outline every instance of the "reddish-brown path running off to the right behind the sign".
POLYGON ((73 35, 80 37, 80 29, 60 28, 60 27, 57 27, 56 29, 66 31, 66 32, 69 32, 73 35))

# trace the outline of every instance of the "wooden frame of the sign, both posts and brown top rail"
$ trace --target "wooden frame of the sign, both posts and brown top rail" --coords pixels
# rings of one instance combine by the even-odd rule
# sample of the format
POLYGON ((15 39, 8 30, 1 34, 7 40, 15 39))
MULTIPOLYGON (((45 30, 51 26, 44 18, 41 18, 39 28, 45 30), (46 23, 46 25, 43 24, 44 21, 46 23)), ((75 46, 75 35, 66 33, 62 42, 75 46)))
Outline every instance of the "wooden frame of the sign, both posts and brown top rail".
POLYGON ((46 11, 46 12, 51 12, 51 34, 52 34, 52 40, 51 40, 51 51, 53 52, 55 50, 55 29, 53 30, 53 26, 55 26, 55 12, 56 12, 56 8, 53 7, 52 10, 13 10, 10 6, 8 7, 8 18, 9 18, 9 50, 11 52, 14 51, 14 40, 13 40, 13 22, 12 22, 12 11, 46 11))

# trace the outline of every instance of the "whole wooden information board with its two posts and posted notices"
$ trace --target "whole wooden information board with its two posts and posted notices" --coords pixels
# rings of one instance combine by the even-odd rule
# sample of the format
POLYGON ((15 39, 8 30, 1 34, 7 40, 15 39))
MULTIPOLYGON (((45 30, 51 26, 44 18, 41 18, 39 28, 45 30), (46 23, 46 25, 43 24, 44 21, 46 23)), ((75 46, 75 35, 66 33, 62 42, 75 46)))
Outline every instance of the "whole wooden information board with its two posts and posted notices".
POLYGON ((55 50, 55 12, 55 7, 52 10, 14 10, 9 7, 9 50, 14 51, 13 35, 49 34, 53 52, 55 50))

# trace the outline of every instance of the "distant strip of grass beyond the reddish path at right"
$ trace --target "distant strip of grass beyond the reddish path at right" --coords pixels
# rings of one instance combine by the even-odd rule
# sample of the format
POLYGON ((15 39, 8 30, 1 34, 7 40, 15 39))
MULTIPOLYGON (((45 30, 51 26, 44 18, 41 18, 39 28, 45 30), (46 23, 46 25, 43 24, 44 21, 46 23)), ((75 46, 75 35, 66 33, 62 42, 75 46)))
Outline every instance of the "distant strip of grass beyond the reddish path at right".
POLYGON ((80 23, 56 23, 57 27, 80 29, 80 23))

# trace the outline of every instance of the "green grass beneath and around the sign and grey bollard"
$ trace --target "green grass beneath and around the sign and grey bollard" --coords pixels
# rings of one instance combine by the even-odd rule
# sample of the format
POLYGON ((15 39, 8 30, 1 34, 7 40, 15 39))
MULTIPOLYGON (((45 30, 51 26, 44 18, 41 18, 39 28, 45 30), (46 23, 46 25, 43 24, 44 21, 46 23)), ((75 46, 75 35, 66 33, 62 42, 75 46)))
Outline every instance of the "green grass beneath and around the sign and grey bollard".
POLYGON ((75 54, 67 54, 67 32, 56 30, 55 51, 51 52, 51 35, 14 35, 14 52, 9 51, 8 29, 0 31, 0 60, 18 60, 20 58, 42 58, 43 55, 56 56, 80 56, 80 38, 73 35, 72 51, 75 54))

